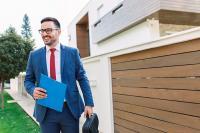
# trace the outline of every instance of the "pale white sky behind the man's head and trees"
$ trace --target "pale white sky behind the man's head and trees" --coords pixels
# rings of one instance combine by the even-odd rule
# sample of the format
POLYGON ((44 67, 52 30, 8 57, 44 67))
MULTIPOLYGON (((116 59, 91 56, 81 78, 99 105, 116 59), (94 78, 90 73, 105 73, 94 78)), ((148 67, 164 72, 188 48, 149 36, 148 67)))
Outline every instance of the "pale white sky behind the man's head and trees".
POLYGON ((67 26, 84 8, 89 0, 0 0, 0 33, 9 26, 16 28, 21 34, 23 16, 29 16, 33 38, 36 46, 44 46, 38 30, 40 20, 44 17, 56 17, 61 23, 62 34, 60 41, 67 43, 67 26))

